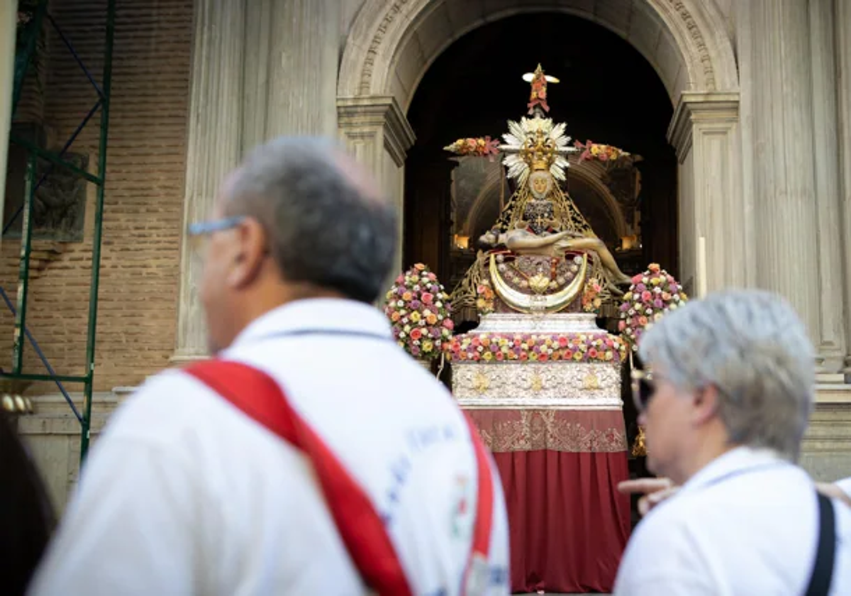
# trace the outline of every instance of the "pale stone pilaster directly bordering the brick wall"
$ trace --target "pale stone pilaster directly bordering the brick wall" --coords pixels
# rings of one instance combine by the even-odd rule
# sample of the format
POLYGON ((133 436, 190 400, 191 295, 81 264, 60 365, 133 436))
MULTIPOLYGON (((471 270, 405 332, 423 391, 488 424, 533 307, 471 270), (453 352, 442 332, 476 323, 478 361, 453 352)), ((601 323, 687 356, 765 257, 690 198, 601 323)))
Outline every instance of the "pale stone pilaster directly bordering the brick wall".
MULTIPOLYGON (((241 155, 246 0, 196 0, 186 155, 185 225, 208 218, 220 182, 241 155)), ((197 296, 201 263, 181 247, 177 347, 172 360, 208 354, 197 296)))

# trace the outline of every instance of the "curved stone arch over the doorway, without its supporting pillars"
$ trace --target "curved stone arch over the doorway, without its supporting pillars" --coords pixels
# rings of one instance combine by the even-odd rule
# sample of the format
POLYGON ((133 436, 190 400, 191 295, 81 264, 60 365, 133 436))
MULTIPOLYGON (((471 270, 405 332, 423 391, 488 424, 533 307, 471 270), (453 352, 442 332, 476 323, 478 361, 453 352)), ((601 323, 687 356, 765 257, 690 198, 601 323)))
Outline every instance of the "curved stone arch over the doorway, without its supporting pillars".
POLYGON ((629 41, 654 66, 671 102, 683 91, 738 89, 733 47, 714 4, 702 0, 367 0, 351 28, 337 95, 391 95, 407 110, 443 49, 477 26, 528 12, 592 20, 629 41))

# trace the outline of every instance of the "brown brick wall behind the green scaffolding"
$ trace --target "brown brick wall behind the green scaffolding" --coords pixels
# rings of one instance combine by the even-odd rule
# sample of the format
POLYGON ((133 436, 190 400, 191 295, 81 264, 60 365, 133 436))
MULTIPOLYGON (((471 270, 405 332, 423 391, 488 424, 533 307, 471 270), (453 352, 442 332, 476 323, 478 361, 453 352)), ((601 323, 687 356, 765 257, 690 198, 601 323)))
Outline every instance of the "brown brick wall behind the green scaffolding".
MULTIPOLYGON (((174 352, 180 230, 186 169, 191 0, 118 0, 106 169, 95 389, 134 385, 168 365, 174 352)), ((53 0, 63 32, 100 82, 104 0, 53 0)), ((43 123, 58 149, 96 95, 51 31, 43 123)), ((27 89, 27 93, 32 93, 27 89)), ((94 117, 71 147, 97 170, 100 121, 94 117)), ((30 284, 27 323, 60 374, 83 374, 95 188, 89 185, 83 242, 60 255, 30 284)), ((50 244, 34 243, 34 249, 50 244)), ((3 240, 0 284, 14 300, 20 241, 3 240)), ((11 363, 13 321, 0 304, 0 366, 11 363)), ((26 372, 43 372, 26 346, 26 372)), ((82 387, 68 387, 79 390, 82 387)), ((55 392, 38 384, 34 392, 55 392)))

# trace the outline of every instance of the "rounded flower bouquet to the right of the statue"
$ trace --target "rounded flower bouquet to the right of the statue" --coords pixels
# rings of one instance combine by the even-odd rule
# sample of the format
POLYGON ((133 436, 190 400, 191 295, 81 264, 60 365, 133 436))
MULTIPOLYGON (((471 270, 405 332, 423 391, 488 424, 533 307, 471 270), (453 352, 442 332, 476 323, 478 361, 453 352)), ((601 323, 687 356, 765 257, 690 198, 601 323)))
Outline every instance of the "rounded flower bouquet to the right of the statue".
POLYGON ((676 310, 688 301, 683 286, 658 263, 632 278, 630 289, 620 304, 618 330, 624 335, 633 351, 644 331, 658 321, 665 312, 676 310))

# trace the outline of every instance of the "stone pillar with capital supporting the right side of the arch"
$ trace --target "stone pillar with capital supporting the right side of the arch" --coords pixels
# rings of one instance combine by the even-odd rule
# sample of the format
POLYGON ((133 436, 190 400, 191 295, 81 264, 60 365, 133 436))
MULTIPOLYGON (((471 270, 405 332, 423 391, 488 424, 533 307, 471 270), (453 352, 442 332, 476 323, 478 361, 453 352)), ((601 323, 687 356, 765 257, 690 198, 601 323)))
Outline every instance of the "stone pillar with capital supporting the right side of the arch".
POLYGON ((683 284, 693 292, 749 284, 754 248, 750 199, 741 186, 739 94, 683 93, 668 140, 680 162, 683 284))

